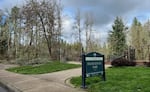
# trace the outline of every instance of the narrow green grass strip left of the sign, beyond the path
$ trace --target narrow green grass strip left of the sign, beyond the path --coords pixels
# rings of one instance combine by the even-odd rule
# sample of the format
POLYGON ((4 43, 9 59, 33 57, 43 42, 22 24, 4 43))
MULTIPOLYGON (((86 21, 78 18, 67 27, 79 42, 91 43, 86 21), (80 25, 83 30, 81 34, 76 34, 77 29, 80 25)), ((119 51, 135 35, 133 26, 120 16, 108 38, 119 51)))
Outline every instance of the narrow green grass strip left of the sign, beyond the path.
POLYGON ((20 74, 44 74, 80 67, 81 65, 67 64, 60 62, 49 62, 38 66, 20 66, 7 69, 8 71, 20 74))

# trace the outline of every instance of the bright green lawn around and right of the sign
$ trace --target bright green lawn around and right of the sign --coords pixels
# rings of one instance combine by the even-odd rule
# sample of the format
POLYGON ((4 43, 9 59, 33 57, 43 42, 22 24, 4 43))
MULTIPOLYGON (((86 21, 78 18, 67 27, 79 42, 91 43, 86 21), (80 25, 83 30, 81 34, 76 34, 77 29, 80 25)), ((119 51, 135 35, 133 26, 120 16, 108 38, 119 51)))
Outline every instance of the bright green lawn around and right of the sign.
MULTIPOLYGON (((106 81, 99 77, 87 78, 88 92, 150 92, 150 68, 118 67, 106 70, 106 81)), ((81 77, 71 79, 81 86, 81 77)))

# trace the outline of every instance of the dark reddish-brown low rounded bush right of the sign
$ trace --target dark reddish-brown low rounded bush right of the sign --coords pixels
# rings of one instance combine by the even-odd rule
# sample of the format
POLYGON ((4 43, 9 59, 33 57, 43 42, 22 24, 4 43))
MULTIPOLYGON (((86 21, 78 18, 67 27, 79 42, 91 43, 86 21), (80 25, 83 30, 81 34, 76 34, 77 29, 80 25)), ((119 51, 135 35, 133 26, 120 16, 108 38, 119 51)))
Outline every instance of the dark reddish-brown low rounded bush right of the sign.
POLYGON ((136 62, 133 62, 133 61, 131 62, 124 58, 117 58, 111 62, 111 65, 115 66, 115 67, 117 67, 117 66, 135 66, 136 62))

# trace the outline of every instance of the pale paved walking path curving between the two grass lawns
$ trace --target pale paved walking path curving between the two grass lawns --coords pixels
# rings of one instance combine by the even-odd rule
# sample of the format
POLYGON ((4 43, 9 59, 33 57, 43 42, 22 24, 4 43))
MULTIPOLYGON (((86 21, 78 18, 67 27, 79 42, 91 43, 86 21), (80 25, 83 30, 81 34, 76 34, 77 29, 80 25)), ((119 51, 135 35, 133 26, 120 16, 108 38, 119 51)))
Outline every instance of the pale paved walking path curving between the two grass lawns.
POLYGON ((5 65, 0 64, 0 67, 0 82, 15 92, 84 92, 65 83, 70 77, 80 76, 81 68, 40 75, 22 75, 5 71, 5 65))

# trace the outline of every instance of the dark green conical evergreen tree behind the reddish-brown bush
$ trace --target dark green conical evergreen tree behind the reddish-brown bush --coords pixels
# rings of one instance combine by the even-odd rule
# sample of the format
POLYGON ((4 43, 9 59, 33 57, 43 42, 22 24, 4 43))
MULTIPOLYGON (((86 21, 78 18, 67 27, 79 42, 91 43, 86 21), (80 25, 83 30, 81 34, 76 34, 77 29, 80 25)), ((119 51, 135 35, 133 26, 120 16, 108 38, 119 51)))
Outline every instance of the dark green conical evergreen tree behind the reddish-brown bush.
POLYGON ((110 49, 114 55, 122 55, 126 48, 126 35, 124 31, 126 27, 121 18, 117 17, 112 25, 112 31, 109 32, 108 42, 110 49))

